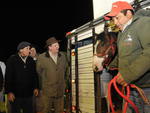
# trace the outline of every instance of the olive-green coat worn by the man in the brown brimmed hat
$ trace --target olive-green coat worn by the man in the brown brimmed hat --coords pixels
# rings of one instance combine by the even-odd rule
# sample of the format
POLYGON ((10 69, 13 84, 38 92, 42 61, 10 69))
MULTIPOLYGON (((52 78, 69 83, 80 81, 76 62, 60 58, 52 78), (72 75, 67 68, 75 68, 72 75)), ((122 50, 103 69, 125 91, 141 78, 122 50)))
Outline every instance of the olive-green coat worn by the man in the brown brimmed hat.
POLYGON ((61 52, 58 54, 57 64, 52 60, 48 52, 39 55, 36 69, 44 95, 54 97, 64 95, 66 66, 66 57, 61 52))

